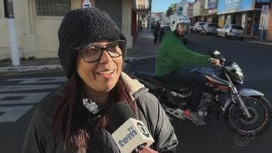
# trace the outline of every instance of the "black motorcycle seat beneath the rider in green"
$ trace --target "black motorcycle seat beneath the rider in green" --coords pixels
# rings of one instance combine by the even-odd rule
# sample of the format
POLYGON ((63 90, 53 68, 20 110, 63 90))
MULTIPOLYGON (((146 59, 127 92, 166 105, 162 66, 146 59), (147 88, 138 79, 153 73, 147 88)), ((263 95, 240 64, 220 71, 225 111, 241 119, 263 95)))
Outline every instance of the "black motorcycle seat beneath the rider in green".
POLYGON ((171 84, 166 84, 164 83, 164 81, 159 79, 154 73, 137 71, 135 72, 135 74, 139 76, 140 78, 145 78, 154 84, 158 84, 159 86, 164 86, 166 89, 172 89, 176 91, 188 91, 189 89, 191 89, 191 87, 179 87, 179 86, 174 86, 171 84))

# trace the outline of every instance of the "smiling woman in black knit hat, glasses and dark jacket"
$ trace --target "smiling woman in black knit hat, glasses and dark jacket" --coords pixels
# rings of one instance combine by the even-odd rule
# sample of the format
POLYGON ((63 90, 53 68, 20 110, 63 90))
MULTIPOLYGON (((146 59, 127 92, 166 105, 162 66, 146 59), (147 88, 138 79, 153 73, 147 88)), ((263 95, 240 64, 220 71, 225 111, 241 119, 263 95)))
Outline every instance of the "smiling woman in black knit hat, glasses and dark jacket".
POLYGON ((126 40, 106 12, 70 11, 58 36, 68 81, 55 98, 37 106, 23 152, 120 152, 107 130, 106 115, 120 101, 128 103, 154 137, 152 146, 141 152, 175 151, 174 128, 157 98, 121 72, 126 40))

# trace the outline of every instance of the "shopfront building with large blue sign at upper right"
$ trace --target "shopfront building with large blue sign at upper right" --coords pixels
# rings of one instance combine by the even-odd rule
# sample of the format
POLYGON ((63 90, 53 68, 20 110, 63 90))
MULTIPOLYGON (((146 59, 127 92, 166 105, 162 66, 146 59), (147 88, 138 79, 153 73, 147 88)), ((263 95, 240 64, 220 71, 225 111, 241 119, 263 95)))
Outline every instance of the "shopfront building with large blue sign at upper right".
MULTIPOLYGON (((217 15, 218 25, 222 27, 226 23, 241 25, 246 35, 253 35, 254 24, 259 27, 259 32, 263 26, 262 6, 270 5, 269 0, 219 0, 217 15)), ((266 38, 268 27, 264 30, 263 37, 266 38)), ((259 33, 260 37, 260 33, 259 33)))

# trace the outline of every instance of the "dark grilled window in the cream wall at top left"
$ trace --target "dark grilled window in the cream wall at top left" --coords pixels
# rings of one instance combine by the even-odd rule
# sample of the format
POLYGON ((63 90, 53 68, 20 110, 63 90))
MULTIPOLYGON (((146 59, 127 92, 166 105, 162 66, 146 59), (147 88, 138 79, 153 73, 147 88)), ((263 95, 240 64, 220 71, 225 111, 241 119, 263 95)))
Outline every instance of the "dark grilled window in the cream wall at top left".
POLYGON ((37 16, 65 16, 71 10, 71 1, 36 0, 37 16))

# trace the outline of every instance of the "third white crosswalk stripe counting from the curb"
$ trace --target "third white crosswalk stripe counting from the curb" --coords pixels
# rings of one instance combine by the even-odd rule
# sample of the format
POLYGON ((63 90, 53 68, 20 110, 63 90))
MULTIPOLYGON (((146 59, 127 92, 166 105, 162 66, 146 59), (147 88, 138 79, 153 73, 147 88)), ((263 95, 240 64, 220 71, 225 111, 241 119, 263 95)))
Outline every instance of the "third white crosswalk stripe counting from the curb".
POLYGON ((0 94, 0 104, 25 104, 39 103, 50 92, 44 93, 20 93, 20 94, 0 94), (11 98, 11 100, 5 100, 11 98))

